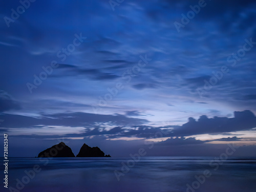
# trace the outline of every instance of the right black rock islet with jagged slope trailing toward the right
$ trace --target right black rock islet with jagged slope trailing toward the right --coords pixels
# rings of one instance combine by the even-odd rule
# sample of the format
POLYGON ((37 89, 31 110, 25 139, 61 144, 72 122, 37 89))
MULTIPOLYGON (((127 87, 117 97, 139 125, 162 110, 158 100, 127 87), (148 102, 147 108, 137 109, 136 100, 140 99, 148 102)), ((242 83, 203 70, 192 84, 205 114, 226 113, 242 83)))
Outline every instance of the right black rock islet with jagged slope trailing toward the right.
POLYGON ((86 143, 82 145, 79 153, 76 157, 111 157, 110 155, 106 155, 100 150, 99 147, 90 147, 86 143))

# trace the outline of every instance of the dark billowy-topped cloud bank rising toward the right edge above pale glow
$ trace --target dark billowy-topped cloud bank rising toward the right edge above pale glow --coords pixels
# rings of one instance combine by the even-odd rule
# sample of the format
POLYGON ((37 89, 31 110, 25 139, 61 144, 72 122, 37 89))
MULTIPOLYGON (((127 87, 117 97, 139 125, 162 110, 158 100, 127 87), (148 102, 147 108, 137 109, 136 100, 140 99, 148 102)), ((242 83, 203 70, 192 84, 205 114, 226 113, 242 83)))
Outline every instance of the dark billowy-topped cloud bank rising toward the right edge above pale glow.
POLYGON ((189 118, 182 126, 133 126, 133 129, 126 130, 118 136, 154 138, 156 133, 163 133, 161 137, 183 137, 200 134, 226 133, 251 130, 256 127, 256 117, 250 111, 234 112, 234 118, 214 117, 208 118, 202 115, 198 121, 189 118), (171 128, 173 127, 173 128, 171 128))

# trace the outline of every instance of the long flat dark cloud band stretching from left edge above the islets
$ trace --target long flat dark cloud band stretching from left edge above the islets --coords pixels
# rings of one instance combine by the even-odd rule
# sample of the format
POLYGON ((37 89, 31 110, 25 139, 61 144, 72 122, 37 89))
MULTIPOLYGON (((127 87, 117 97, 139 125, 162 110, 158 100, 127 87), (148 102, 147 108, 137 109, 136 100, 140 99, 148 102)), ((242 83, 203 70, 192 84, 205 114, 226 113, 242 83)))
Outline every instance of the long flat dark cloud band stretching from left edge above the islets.
POLYGON ((91 113, 60 113, 60 114, 42 114, 40 117, 29 117, 24 115, 2 114, 0 119, 5 119, 1 126, 11 128, 29 128, 36 125, 46 126, 87 126, 93 128, 95 123, 105 122, 117 125, 133 126, 136 124, 147 123, 145 119, 126 117, 125 115, 98 115, 91 113), (14 120, 13 120, 14 119, 14 120))

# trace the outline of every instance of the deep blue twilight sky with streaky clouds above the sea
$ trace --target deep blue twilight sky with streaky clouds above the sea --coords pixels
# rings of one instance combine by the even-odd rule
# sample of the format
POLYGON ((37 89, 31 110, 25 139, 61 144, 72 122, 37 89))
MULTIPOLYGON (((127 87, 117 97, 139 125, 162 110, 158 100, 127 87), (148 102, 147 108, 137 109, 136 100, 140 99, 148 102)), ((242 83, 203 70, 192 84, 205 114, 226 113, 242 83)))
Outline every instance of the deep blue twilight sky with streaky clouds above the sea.
POLYGON ((255 1, 2 1, 0 133, 113 157, 256 149, 255 1), (119 2, 119 3, 118 3, 119 2), (151 143, 151 144, 148 144, 151 143), (148 147, 148 146, 152 147, 148 147))

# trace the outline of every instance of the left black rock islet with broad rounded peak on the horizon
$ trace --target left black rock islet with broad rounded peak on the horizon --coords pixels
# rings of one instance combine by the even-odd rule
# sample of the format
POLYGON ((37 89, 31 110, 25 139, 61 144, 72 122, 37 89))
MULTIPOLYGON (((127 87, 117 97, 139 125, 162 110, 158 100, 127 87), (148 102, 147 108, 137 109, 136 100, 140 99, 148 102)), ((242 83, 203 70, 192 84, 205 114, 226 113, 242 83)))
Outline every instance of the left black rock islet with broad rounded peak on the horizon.
POLYGON ((59 144, 53 145, 52 147, 47 148, 47 150, 40 152, 38 157, 75 157, 75 155, 69 146, 60 142, 59 144))

